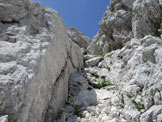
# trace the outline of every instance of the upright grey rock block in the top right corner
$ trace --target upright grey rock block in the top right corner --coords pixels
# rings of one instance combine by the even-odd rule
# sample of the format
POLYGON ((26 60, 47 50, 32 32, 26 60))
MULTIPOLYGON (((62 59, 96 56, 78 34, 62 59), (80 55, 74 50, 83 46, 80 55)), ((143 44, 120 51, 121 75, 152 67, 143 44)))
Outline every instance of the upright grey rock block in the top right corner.
POLYGON ((146 35, 159 36, 158 28, 162 21, 159 0, 136 0, 133 4, 132 28, 135 38, 146 35))

